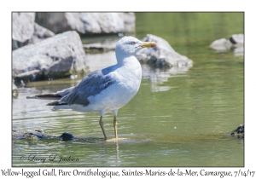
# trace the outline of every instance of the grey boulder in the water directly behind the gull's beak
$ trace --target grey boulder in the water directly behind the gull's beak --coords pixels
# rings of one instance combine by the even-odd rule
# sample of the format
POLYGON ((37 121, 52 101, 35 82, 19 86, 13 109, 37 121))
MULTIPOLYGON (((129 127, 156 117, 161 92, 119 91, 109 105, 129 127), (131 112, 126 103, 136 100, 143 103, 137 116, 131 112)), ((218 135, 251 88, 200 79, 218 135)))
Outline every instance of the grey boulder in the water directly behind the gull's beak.
POLYGON ((148 34, 143 42, 155 42, 157 46, 150 49, 141 49, 137 52, 137 59, 145 61, 150 66, 192 66, 193 61, 188 57, 178 54, 163 38, 148 34))

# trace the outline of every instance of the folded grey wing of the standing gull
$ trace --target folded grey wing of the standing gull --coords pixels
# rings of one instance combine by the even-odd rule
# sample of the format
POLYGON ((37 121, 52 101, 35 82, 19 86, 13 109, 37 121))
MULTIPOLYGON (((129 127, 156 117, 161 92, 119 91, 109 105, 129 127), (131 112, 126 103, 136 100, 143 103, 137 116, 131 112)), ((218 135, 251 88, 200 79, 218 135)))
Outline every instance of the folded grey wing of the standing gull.
POLYGON ((58 101, 57 105, 79 104, 87 106, 89 104, 88 97, 90 95, 97 95, 114 83, 115 80, 111 78, 109 73, 103 74, 102 70, 90 72, 79 85, 71 89, 67 95, 63 96, 61 100, 58 101))

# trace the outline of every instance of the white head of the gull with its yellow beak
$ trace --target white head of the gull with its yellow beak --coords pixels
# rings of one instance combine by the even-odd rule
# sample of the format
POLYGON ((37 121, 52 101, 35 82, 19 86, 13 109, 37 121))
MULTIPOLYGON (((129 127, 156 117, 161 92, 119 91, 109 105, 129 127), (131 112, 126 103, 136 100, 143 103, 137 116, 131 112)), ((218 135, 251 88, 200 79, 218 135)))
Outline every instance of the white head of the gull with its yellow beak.
POLYGON ((154 48, 156 43, 154 42, 142 42, 137 38, 131 36, 119 39, 116 43, 115 53, 116 55, 130 56, 135 55, 139 49, 142 48, 154 48))

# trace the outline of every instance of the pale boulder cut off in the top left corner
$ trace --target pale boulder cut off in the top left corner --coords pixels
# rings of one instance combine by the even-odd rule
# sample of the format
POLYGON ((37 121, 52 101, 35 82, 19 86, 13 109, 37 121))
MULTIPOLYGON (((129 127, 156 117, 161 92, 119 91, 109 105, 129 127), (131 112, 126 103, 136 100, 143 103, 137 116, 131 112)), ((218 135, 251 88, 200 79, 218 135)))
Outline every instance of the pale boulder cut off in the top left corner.
POLYGON ((29 42, 34 33, 35 13, 12 14, 12 49, 18 49, 29 42))

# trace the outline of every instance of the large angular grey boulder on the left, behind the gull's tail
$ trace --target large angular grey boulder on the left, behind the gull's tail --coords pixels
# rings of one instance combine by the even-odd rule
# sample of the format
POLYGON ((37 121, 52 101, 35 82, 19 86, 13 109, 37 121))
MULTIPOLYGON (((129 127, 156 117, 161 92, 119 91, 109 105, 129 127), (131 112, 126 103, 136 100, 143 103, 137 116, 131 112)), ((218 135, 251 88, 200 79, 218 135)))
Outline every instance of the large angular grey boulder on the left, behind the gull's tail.
POLYGON ((13 51, 13 77, 17 80, 60 78, 87 72, 85 52, 77 32, 64 32, 13 51))

